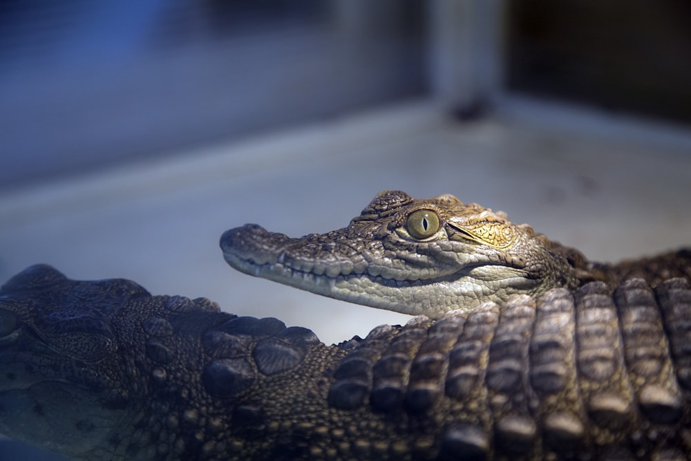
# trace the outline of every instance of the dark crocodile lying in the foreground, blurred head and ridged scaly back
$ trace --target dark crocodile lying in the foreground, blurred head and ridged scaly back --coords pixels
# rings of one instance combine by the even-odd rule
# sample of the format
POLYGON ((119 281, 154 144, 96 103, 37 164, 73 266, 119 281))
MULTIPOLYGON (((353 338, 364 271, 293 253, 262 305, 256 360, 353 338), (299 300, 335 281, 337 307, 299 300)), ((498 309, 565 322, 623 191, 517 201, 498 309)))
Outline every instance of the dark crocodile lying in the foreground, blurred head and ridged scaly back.
POLYGON ((518 295, 322 344, 48 266, 0 291, 0 431, 83 460, 684 460, 691 288, 518 295))

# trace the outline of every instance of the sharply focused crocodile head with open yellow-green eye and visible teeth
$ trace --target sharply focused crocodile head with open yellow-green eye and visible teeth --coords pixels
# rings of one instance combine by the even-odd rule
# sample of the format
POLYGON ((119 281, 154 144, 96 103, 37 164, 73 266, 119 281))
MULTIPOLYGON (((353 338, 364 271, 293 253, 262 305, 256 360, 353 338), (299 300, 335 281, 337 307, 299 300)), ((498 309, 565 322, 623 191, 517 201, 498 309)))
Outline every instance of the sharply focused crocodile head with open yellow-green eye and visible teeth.
POLYGON ((229 265, 328 297, 438 318, 513 294, 574 288, 575 250, 451 195, 382 191, 348 227, 290 238, 247 224, 220 239, 229 265))

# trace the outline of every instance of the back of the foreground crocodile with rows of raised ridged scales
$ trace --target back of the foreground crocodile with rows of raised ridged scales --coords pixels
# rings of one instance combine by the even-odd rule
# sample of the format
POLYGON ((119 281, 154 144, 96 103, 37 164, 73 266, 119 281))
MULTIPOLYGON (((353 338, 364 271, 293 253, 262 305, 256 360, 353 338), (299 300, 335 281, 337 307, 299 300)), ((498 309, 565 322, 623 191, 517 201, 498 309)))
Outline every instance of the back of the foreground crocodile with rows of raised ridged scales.
POLYGON ((413 458, 683 460, 689 344, 687 280, 594 282, 374 330, 329 403, 416 426, 413 458))

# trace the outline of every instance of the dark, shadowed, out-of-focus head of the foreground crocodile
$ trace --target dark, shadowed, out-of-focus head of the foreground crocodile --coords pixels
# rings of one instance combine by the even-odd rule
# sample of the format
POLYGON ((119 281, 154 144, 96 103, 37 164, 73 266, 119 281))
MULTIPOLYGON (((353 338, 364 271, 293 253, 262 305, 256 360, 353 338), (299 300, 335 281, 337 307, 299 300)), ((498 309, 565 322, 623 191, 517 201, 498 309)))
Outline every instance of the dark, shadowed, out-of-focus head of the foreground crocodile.
POLYGON ((80 457, 130 410, 111 318, 146 290, 81 284, 47 265, 0 289, 0 433, 80 457), (106 411, 107 410, 107 411, 106 411))

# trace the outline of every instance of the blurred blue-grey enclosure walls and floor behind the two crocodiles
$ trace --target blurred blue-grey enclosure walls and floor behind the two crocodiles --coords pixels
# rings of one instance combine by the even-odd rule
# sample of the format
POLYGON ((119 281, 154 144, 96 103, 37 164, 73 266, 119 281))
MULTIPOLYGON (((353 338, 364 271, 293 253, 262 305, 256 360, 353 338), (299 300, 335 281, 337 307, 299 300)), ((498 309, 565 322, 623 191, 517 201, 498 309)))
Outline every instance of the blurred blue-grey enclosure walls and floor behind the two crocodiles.
MULTIPOLYGON (((597 260, 690 246, 689 23, 683 0, 0 2, 0 283, 49 263, 332 343, 407 317, 234 272, 225 229, 327 232, 403 189, 597 260)), ((0 459, 59 459, 26 449, 0 459)))

